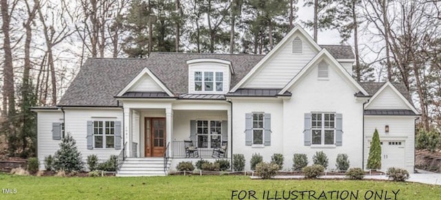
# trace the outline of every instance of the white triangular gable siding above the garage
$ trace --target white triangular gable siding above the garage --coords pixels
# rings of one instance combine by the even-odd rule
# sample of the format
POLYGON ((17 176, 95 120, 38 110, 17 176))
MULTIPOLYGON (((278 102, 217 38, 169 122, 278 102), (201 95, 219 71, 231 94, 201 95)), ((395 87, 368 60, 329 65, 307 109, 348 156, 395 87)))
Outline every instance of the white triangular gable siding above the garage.
POLYGON ((367 109, 409 109, 404 101, 395 93, 391 87, 387 86, 374 99, 367 109))

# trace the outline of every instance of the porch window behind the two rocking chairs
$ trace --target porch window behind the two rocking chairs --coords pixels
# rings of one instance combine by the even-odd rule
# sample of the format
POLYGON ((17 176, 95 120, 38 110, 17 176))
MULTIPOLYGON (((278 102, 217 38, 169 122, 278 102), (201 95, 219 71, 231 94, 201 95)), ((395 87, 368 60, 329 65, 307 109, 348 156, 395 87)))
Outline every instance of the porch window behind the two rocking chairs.
POLYGON ((198 120, 196 134, 198 148, 219 148, 222 141, 220 121, 198 120))

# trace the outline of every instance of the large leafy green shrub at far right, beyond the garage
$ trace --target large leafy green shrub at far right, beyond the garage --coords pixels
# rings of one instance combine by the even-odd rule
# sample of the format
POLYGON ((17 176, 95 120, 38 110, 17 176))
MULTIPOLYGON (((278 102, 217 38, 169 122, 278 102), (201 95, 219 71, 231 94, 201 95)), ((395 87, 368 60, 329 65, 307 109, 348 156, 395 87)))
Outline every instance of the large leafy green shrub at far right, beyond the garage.
POLYGON ((440 146, 440 143, 440 133, 434 130, 425 131, 420 129, 416 135, 416 149, 427 149, 433 152, 440 146))

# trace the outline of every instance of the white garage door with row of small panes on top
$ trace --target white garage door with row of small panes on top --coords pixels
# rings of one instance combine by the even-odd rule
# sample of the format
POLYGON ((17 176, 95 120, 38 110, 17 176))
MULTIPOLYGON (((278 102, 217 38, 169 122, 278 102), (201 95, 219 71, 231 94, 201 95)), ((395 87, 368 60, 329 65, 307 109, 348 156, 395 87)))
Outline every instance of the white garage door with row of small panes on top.
POLYGON ((404 140, 384 140, 381 142, 381 169, 404 168, 404 140))

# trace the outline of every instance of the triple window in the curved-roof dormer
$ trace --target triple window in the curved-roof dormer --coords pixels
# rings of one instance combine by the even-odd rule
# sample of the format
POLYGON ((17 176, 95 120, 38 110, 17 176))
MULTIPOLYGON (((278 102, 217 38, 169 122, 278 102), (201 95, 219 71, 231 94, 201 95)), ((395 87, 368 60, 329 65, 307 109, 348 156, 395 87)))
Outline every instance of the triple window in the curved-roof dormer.
POLYGON ((194 91, 223 91, 223 72, 194 71, 194 91))

